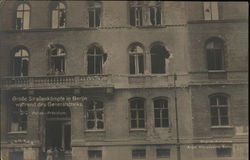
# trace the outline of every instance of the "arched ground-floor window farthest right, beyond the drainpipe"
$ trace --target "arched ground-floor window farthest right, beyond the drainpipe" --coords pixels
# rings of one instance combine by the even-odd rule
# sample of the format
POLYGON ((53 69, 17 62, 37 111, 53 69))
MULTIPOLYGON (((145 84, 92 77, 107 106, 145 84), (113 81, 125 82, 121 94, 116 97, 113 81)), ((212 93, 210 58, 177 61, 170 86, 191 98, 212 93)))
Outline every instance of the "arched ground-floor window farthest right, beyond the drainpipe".
POLYGON ((228 97, 225 95, 213 95, 209 97, 211 109, 211 124, 212 126, 229 125, 229 103, 228 97))

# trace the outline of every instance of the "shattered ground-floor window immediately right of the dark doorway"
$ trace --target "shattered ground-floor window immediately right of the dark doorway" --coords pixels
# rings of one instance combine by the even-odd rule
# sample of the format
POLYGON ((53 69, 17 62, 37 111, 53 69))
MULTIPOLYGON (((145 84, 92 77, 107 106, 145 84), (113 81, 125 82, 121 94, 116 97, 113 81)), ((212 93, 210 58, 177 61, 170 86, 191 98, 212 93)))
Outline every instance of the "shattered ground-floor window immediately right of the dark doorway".
POLYGON ((87 129, 104 129, 104 109, 101 101, 89 100, 87 103, 87 129))

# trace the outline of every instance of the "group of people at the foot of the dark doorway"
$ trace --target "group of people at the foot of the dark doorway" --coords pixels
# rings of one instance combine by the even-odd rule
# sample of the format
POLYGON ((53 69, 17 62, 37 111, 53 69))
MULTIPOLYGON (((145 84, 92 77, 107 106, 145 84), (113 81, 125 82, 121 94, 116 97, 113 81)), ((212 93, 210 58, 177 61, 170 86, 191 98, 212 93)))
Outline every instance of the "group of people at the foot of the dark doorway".
POLYGON ((46 152, 46 160, 63 160, 64 154, 62 148, 49 147, 46 152))

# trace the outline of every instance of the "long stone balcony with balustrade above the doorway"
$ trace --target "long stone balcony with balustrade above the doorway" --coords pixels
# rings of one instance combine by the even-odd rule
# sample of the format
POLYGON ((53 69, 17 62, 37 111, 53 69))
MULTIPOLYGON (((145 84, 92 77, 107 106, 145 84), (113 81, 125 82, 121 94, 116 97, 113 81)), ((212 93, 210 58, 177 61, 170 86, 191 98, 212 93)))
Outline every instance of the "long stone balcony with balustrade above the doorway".
POLYGON ((1 77, 2 89, 60 89, 113 87, 111 75, 1 77))

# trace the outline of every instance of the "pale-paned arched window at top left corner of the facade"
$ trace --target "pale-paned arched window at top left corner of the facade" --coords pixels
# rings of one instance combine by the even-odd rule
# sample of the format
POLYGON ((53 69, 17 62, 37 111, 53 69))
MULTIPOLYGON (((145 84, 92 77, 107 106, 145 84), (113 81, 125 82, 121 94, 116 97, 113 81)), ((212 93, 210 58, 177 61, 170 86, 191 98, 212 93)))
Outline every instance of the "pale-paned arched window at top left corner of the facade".
POLYGON ((30 28, 30 6, 26 3, 19 4, 16 10, 16 29, 30 28))

